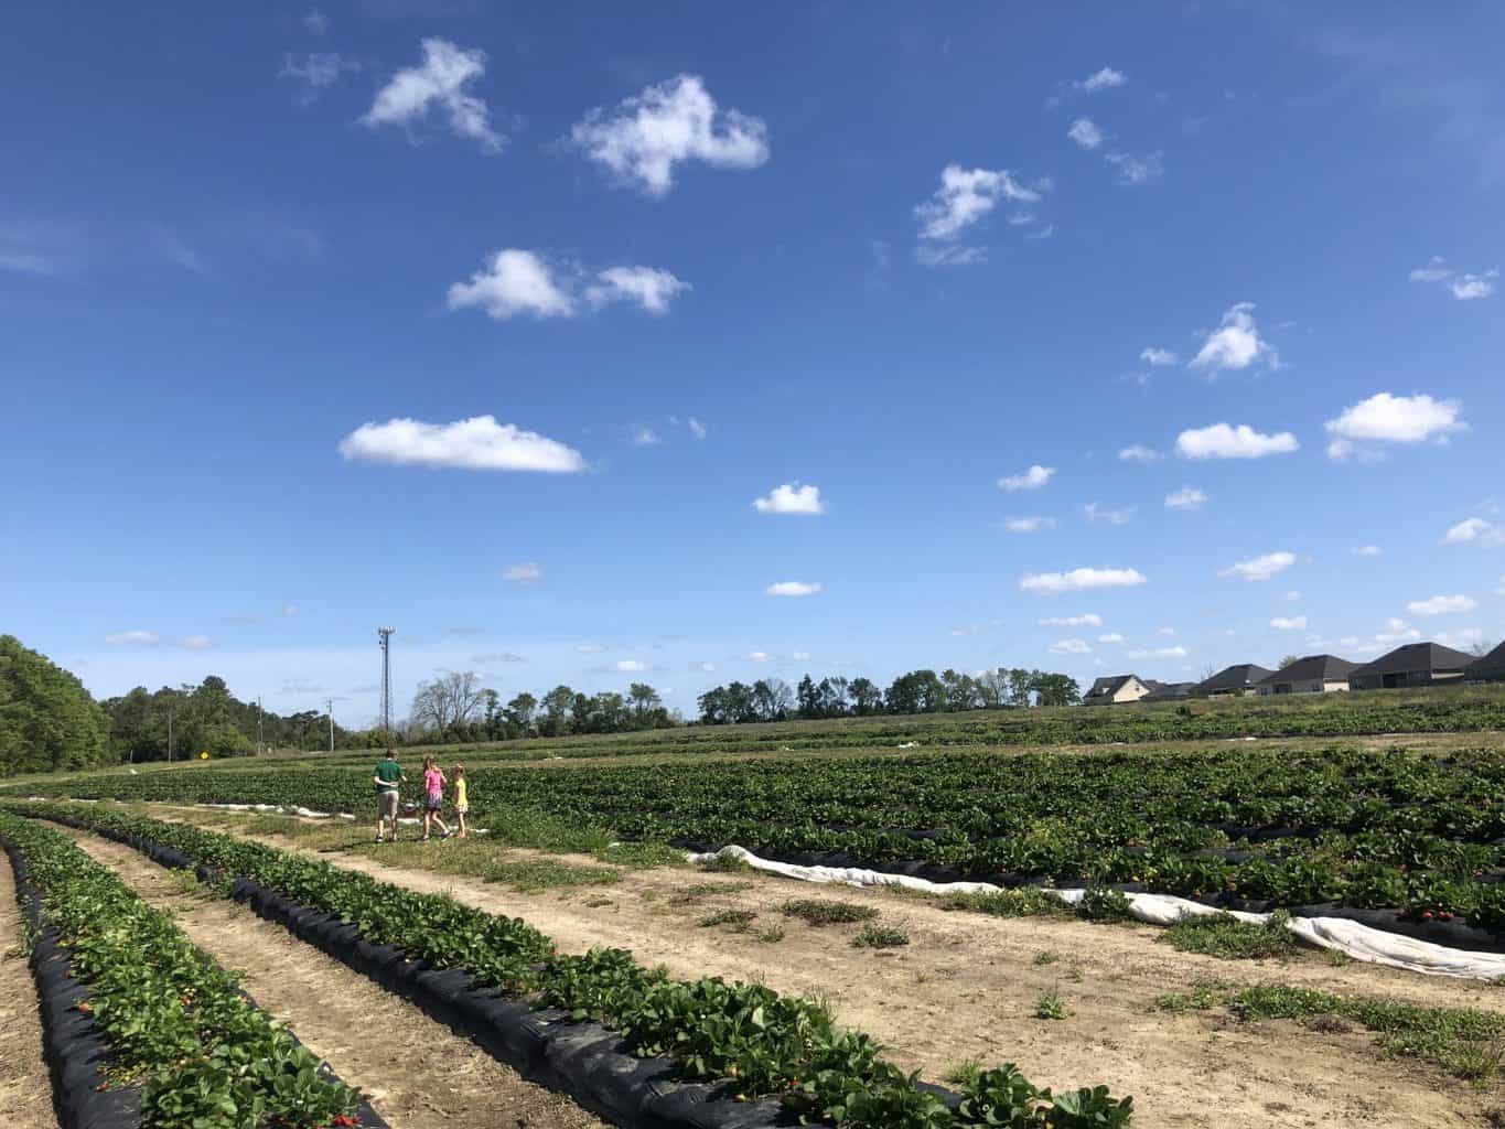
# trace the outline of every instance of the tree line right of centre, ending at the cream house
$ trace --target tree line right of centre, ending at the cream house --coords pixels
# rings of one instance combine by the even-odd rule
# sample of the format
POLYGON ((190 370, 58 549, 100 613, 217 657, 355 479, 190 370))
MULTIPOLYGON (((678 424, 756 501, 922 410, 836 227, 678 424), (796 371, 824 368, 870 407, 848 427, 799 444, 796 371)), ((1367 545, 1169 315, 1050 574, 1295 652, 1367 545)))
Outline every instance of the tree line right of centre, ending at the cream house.
POLYGON ((789 718, 844 718, 876 714, 957 714, 968 709, 1075 706, 1076 679, 1044 670, 998 667, 981 674, 912 670, 880 689, 871 679, 805 674, 796 686, 778 677, 728 682, 700 695, 700 724, 731 726, 789 718))

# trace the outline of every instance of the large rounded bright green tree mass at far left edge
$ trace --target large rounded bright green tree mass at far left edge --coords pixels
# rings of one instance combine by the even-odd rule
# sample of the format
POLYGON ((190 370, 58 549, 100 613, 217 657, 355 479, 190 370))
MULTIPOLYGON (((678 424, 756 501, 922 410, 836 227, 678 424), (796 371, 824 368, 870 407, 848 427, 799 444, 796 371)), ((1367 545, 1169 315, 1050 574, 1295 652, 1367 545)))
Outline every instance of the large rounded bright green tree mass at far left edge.
POLYGON ((0 777, 110 762, 104 711, 47 656, 0 635, 0 777))

